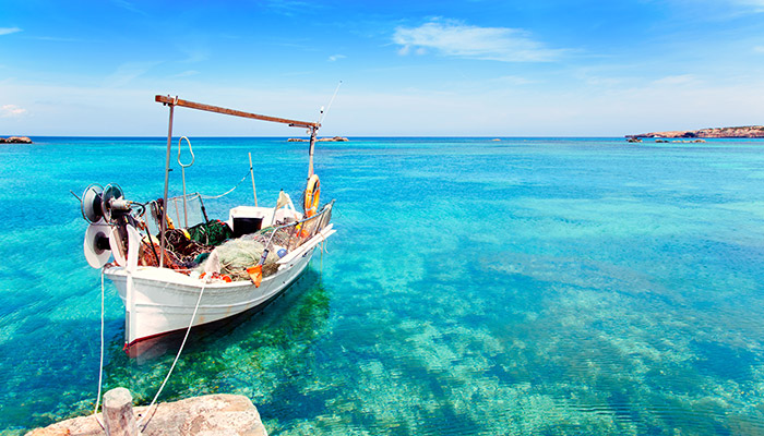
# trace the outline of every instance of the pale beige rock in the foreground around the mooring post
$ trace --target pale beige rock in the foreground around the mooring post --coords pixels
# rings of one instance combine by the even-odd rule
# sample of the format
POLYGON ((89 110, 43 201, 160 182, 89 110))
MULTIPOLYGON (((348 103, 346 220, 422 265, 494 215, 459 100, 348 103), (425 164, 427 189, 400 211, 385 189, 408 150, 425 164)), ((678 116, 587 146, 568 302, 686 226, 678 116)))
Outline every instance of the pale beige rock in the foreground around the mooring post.
MULTIPOLYGON (((136 420, 146 413, 146 407, 135 408, 136 420)), ((267 436, 258 409, 249 398, 236 395, 211 395, 176 402, 160 403, 147 422, 142 435, 248 435, 267 436)), ((103 421, 100 414, 98 419, 103 421)), ((81 416, 37 428, 27 436, 103 435, 95 417, 81 416)))

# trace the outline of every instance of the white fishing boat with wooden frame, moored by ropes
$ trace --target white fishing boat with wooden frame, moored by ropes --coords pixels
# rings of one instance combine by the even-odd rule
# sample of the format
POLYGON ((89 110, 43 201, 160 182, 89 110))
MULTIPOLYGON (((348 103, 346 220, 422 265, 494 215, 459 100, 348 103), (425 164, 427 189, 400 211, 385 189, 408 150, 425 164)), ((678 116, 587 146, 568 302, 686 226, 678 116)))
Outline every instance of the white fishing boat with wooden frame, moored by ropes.
MULTIPOLYGON (((168 106, 170 116, 164 197, 147 203, 132 202, 123 197, 119 185, 109 184, 106 187, 91 185, 81 198, 83 217, 91 222, 85 234, 85 257, 114 282, 124 303, 127 348, 144 339, 213 323, 268 303, 306 270, 315 247, 335 232, 330 223, 334 202, 319 207, 320 183, 313 173, 313 149, 320 122, 260 116, 169 96, 156 96, 156 101, 168 106), (190 164, 181 162, 182 141, 178 143, 178 164, 183 170, 183 195, 168 198, 176 107, 307 129, 310 145, 302 211, 296 210, 283 192, 274 207, 256 205, 250 156, 255 206, 230 209, 224 223, 207 220, 202 204, 204 220, 189 226, 188 204, 193 195, 186 195, 186 168, 190 164), (182 202, 183 226, 174 229, 169 208, 176 206, 180 225, 178 202, 182 202), (152 214, 147 214, 148 210, 152 214), (150 222, 150 215, 155 223, 150 222), (152 226, 156 227, 158 235, 152 234, 152 226), (228 235, 230 231, 234 237, 226 242, 211 241, 213 230, 228 235), (179 235, 182 243, 168 241, 174 234, 179 235), (199 234, 202 237, 193 238, 199 234), (183 259, 176 253, 182 244, 193 246, 194 261, 189 261, 188 256, 183 259)), ((188 148, 193 157, 190 142, 188 148)), ((201 202, 202 197, 195 195, 201 202)))

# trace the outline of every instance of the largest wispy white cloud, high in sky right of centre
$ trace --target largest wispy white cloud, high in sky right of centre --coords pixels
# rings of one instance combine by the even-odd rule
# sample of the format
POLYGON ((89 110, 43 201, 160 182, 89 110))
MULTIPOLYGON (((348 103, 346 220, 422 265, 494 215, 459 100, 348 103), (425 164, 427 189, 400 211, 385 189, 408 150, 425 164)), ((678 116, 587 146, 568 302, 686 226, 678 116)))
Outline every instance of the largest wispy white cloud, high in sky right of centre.
POLYGON ((549 49, 530 39, 527 32, 509 27, 478 27, 453 20, 432 20, 419 27, 397 27, 393 41, 399 55, 428 49, 456 58, 502 62, 545 62, 564 50, 549 49))

